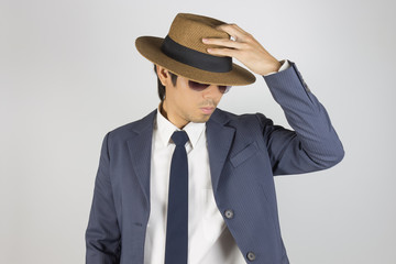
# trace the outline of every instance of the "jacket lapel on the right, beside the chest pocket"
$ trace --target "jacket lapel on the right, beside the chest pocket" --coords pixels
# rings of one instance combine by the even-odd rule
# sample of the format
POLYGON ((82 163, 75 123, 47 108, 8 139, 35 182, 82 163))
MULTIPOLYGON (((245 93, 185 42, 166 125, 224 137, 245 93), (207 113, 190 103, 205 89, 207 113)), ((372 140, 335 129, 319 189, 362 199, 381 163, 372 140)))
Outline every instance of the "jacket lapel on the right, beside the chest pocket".
POLYGON ((233 128, 224 125, 228 121, 228 117, 217 109, 207 122, 207 141, 213 191, 218 188, 221 170, 235 133, 233 128))

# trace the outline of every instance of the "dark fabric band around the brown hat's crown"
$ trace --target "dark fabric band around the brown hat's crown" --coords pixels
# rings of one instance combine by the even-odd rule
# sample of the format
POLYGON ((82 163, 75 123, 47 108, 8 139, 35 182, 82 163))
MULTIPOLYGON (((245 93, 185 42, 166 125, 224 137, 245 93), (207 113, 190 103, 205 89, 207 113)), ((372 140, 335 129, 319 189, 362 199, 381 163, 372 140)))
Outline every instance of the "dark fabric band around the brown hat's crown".
POLYGON ((197 52, 178 44, 168 35, 165 37, 161 50, 168 57, 199 69, 212 73, 228 73, 232 70, 231 57, 217 57, 197 52))

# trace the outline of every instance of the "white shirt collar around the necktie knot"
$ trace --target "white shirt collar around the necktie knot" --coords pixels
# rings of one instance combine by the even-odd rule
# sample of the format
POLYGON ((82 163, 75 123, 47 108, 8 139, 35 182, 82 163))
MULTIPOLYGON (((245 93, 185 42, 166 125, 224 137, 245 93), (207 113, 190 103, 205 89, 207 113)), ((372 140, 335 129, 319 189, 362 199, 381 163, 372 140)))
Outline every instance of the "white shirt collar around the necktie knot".
MULTIPOLYGON (((161 108, 161 103, 157 108, 156 127, 163 145, 167 146, 170 143, 172 134, 175 131, 180 131, 180 129, 178 129, 169 120, 167 120, 164 116, 162 116, 160 108, 161 108)), ((198 140, 202 135, 205 129, 206 129, 206 123, 189 122, 188 124, 186 124, 186 127, 184 127, 183 130, 186 131, 193 148, 197 145, 198 140)))

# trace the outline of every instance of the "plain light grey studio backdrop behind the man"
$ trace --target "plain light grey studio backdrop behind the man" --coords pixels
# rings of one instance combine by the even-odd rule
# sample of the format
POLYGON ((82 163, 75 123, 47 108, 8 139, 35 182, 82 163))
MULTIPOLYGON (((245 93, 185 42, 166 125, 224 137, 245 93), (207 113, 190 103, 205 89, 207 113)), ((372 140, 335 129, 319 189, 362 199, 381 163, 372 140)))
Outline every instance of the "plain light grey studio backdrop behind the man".
MULTIPOLYGON (((0 263, 85 262, 105 134, 158 105, 140 35, 178 12, 215 16, 295 62, 345 148, 333 168, 276 180, 294 264, 396 263, 394 1, 1 0, 0 263)), ((288 128, 264 80, 220 108, 288 128)))

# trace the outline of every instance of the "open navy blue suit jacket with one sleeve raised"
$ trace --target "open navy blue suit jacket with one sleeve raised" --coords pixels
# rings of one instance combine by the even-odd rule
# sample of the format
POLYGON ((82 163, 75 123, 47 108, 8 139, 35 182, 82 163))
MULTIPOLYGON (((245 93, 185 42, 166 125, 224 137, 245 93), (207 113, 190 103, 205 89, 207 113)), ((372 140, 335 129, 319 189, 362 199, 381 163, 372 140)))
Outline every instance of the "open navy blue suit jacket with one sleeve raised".
MULTIPOLYGON (((290 127, 261 113, 217 109, 207 122, 211 182, 219 211, 246 262, 286 264, 274 175, 301 174, 339 163, 342 144, 322 105, 297 67, 264 77, 290 127)), ((109 132, 102 144, 86 231, 88 264, 141 264, 150 215, 150 166, 156 111, 109 132)))

